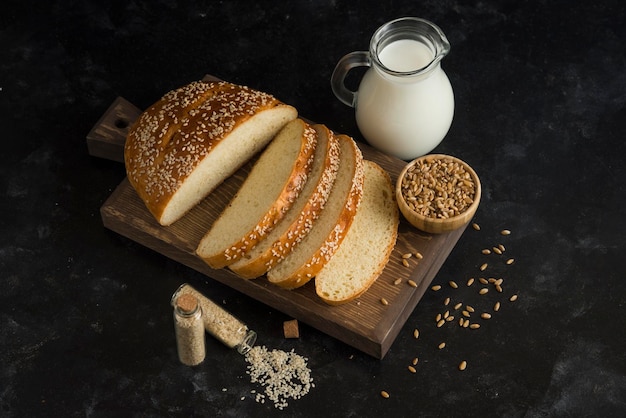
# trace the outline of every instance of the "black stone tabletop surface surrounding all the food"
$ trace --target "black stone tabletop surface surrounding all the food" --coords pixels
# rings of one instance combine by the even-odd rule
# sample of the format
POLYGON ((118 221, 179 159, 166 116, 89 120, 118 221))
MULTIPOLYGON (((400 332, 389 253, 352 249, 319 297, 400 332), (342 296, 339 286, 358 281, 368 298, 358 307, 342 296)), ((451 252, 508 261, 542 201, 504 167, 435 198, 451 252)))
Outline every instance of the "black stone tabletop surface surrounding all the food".
POLYGON ((624 416, 625 15, 622 1, 3 2, 0 416, 624 416), (330 74, 403 15, 450 39, 457 107, 435 151, 469 162, 484 196, 482 230, 383 360, 306 325, 286 340, 284 314, 102 227, 124 168, 85 136, 117 96, 144 108, 209 73, 361 139, 330 74), (498 243, 513 265, 480 253, 498 243), (479 330, 436 328, 446 296, 490 309, 493 291, 446 285, 485 260, 519 299, 479 330), (183 282, 307 357, 315 388, 284 411, 257 403, 243 357, 211 339, 203 365, 181 365, 183 282))

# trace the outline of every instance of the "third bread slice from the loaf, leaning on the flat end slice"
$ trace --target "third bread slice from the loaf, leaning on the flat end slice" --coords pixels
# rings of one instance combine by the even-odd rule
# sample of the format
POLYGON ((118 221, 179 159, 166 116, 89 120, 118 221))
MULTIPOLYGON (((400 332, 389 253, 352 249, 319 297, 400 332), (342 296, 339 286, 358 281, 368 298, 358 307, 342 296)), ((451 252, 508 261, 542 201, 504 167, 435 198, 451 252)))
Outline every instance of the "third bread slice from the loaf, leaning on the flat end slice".
POLYGON ((337 135, 339 171, 324 210, 310 232, 285 259, 267 272, 278 286, 306 284, 328 262, 350 228, 363 194, 363 156, 354 140, 337 135))

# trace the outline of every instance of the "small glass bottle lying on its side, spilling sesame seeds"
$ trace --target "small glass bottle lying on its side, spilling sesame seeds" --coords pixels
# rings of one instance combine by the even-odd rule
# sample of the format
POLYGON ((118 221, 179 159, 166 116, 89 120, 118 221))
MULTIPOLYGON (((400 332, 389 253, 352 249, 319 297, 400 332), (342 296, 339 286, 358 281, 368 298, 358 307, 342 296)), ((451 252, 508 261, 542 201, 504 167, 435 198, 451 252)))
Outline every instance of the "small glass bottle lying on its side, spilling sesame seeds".
POLYGON ((172 296, 172 304, 183 295, 194 296, 202 309, 204 328, 224 345, 246 354, 256 342, 256 332, 202 293, 185 283, 172 296))

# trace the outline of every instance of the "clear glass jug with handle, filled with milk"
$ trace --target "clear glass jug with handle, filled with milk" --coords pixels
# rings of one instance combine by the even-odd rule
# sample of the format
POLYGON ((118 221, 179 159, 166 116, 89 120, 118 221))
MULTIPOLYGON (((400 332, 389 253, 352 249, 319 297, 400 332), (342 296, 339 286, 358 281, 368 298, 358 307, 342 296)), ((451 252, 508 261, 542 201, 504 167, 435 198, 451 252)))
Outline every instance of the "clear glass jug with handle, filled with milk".
POLYGON ((454 94, 441 60, 450 44, 436 25, 405 17, 372 36, 369 51, 339 60, 331 78, 335 96, 356 109, 363 137, 380 151, 412 160, 432 151, 448 133, 454 94), (348 72, 369 67, 358 91, 345 85, 348 72))

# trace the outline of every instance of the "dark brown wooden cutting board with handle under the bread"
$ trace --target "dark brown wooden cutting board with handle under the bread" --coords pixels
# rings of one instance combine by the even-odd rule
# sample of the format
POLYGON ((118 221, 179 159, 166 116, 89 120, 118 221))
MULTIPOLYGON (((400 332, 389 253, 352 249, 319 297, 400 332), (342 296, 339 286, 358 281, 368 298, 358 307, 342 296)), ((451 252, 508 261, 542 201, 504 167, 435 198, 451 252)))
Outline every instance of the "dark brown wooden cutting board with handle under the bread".
MULTIPOLYGON (((214 79, 211 76, 205 79, 214 79)), ((123 147, 129 126, 141 110, 123 98, 116 99, 87 135, 91 155, 123 162, 123 147)), ((380 164, 395 184, 405 162, 359 143, 366 159, 380 164)), ((430 235, 418 231, 401 216, 398 241, 389 264, 372 287, 358 300, 329 306, 315 294, 313 281, 296 290, 284 290, 265 277, 243 280, 228 269, 209 268, 195 255, 197 244, 246 178, 250 164, 227 179, 209 198, 174 225, 159 225, 127 179, 124 179, 100 209, 104 226, 139 244, 193 268, 272 308, 337 338, 371 356, 382 359, 432 279, 456 245, 465 228, 430 235), (409 267, 402 254, 419 252, 409 267), (401 283, 396 284, 400 279, 401 283), (412 280, 416 287, 409 285, 412 280), (388 304, 381 303, 384 298, 388 304)), ((250 323, 250 319, 242 318, 250 323)), ((250 324, 254 327, 254 324, 250 324)))

